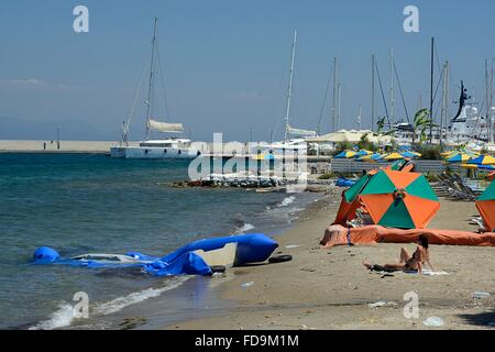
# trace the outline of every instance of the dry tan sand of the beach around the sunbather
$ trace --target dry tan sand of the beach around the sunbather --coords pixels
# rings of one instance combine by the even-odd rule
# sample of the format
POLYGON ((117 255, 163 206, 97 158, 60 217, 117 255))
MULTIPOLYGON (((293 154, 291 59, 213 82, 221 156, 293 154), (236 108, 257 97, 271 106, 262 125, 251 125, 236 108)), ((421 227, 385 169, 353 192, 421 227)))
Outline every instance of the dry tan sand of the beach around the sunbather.
MULTIPOLYGON (((341 190, 312 204, 297 224, 276 238, 279 252, 293 261, 234 267, 227 274, 220 298, 234 302, 221 316, 175 323, 165 329, 493 329, 495 311, 493 248, 431 246, 436 271, 448 275, 371 273, 363 261, 394 263, 399 244, 320 249, 324 228, 332 222, 341 190), (250 283, 248 287, 243 284, 250 283), (406 319, 406 293, 417 293, 419 317, 406 319), (474 292, 492 293, 473 298, 474 292), (369 305, 383 301, 383 306, 369 305), (441 327, 422 323, 440 317, 441 327)), ((441 199, 430 228, 475 231, 470 218, 474 204, 441 199)), ((411 252, 414 244, 406 245, 411 252)))

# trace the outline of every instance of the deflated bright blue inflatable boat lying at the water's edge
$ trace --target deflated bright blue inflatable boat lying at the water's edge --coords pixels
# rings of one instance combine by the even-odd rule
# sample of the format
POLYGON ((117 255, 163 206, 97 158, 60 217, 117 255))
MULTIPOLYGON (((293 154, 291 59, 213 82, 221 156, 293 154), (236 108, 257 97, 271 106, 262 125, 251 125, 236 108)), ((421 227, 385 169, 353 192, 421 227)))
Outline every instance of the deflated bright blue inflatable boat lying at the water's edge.
POLYGON ((199 240, 163 257, 129 252, 127 254, 85 254, 72 258, 61 258, 55 250, 42 246, 34 252, 33 263, 92 268, 141 267, 154 276, 210 275, 211 267, 195 251, 211 252, 223 249, 230 243, 237 244, 234 265, 264 262, 278 246, 274 240, 263 233, 199 240))

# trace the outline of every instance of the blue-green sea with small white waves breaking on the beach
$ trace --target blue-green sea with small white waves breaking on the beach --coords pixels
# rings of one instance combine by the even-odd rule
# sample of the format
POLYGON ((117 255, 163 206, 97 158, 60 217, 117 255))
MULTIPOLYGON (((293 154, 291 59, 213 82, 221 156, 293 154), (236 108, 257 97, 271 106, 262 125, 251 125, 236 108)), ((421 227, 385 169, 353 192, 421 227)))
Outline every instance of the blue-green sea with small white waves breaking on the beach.
POLYGON ((163 256, 204 238, 277 237, 318 197, 170 187, 187 179, 188 165, 103 154, 0 154, 0 329, 119 329, 129 315, 153 316, 160 326, 208 314, 211 278, 34 265, 33 252, 50 246, 62 257, 163 256), (80 293, 89 301, 88 319, 73 314, 80 293))

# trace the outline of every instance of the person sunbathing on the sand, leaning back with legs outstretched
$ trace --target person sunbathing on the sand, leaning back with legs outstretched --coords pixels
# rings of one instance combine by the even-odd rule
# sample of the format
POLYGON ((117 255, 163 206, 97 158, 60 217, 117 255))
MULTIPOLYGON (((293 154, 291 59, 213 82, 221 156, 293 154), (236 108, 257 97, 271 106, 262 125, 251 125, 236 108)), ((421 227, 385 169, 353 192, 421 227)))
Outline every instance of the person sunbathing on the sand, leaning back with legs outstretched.
POLYGON ((428 237, 426 234, 420 234, 417 240, 417 249, 413 256, 409 255, 409 252, 405 248, 400 250, 400 262, 398 264, 385 264, 385 265, 376 265, 363 262, 363 265, 375 272, 418 272, 422 273, 422 268, 425 267, 425 263, 428 263, 428 266, 433 271, 433 266, 430 263, 430 253, 428 250, 428 237))

